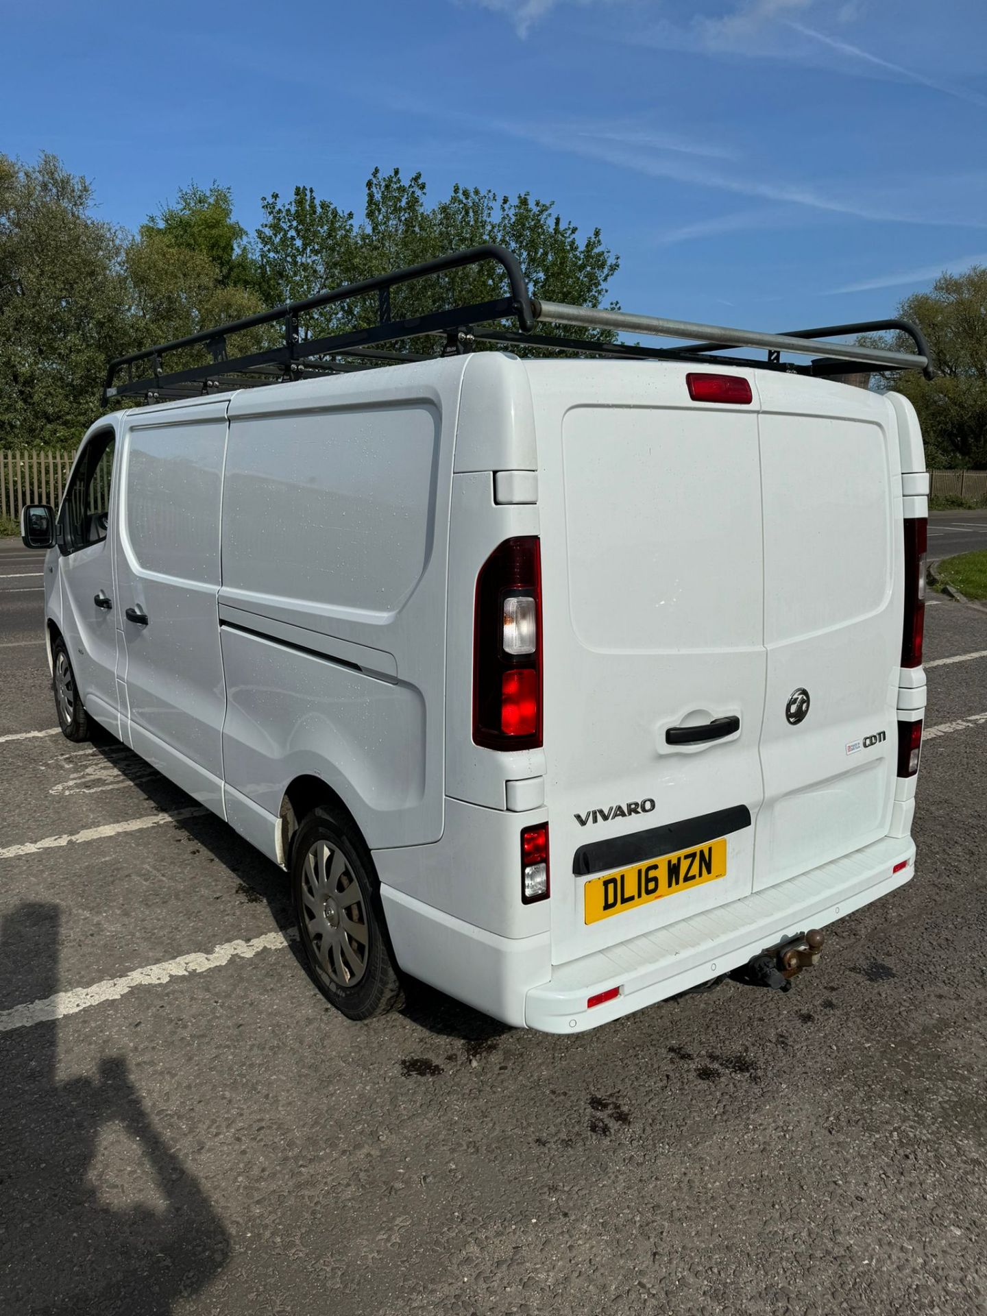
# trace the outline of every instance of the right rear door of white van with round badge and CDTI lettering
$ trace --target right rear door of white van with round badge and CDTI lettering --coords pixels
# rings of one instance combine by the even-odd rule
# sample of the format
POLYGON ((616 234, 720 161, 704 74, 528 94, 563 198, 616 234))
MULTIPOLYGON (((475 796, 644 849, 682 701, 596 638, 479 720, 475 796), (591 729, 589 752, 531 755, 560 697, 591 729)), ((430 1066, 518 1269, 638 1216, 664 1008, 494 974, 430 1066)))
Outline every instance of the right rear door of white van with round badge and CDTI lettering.
POLYGON ((755 890, 887 834, 904 609, 891 407, 767 371, 758 390, 767 691, 755 890))

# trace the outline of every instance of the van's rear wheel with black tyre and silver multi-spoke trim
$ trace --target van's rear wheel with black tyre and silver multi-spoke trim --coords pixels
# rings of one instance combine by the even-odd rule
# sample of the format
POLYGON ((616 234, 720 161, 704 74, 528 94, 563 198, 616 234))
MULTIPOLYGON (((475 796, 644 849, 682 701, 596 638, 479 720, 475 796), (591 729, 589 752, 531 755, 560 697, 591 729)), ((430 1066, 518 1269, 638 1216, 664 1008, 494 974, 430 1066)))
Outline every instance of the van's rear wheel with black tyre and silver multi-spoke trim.
POLYGON ((291 886, 316 987, 347 1019, 383 1015, 400 999, 374 861, 353 822, 313 809, 295 833, 291 886))

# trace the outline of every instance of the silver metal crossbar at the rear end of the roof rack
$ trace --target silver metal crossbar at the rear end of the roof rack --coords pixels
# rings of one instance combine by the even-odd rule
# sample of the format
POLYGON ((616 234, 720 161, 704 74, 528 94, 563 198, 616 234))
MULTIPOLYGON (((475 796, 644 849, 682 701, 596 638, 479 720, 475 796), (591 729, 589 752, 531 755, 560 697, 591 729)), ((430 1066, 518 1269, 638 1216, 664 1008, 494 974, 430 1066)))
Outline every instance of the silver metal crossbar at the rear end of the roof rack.
MULTIPOLYGON (((640 316, 628 311, 609 311, 605 307, 570 307, 563 301, 533 301, 536 320, 561 325, 588 325, 596 329, 615 329, 619 333, 646 333, 661 338, 712 340, 713 347, 767 347, 770 351, 791 351, 813 355, 825 351, 828 357, 853 362, 870 362, 890 370, 932 368, 928 353, 892 351, 886 347, 861 347, 857 343, 821 342, 799 334, 761 333, 757 329, 728 329, 722 325, 692 324, 688 320, 666 320, 659 316, 640 316)), ((840 329, 840 332, 848 332, 840 329)), ((916 330, 917 333, 917 330, 916 330)), ((680 350, 688 355, 695 346, 687 342, 680 350)))

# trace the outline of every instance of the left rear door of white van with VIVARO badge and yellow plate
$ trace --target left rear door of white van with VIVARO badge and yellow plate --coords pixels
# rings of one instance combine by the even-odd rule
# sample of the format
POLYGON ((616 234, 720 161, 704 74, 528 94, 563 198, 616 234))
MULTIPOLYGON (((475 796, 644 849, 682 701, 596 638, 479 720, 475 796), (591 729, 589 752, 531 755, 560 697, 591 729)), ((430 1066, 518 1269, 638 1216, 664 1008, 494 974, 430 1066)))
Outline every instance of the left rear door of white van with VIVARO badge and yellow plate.
MULTIPOLYGON (((758 395, 694 400, 687 374, 529 366, 555 963, 755 883, 767 686, 758 395)), ((753 384, 751 371, 728 374, 753 384)))

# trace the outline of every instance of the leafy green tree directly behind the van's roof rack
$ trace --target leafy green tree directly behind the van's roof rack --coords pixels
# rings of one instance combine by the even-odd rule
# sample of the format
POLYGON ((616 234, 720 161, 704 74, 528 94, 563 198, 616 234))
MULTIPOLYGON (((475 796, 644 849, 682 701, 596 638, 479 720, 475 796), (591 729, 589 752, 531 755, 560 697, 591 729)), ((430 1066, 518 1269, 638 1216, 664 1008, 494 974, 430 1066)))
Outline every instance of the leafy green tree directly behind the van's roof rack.
MULTIPOLYGON (((453 187, 450 195, 428 204, 421 174, 409 179, 400 170, 374 170, 367 179, 363 217, 317 199, 312 188, 296 187, 282 201, 262 200, 265 222, 257 232, 257 257, 268 303, 297 300, 322 288, 367 279, 432 257, 483 242, 499 242, 519 257, 536 297, 600 305, 619 259, 603 245, 600 230, 579 237, 554 203, 524 192, 513 199, 480 188, 453 187)), ((392 292, 392 316, 418 315, 451 304, 486 301, 507 291, 492 263, 451 271, 407 284, 392 292)), ((343 325, 374 324, 376 300, 326 308, 311 318, 309 332, 343 325)), ((541 330, 551 333, 553 326, 541 330)), ((605 330, 565 329, 570 337, 609 341, 605 330)))

